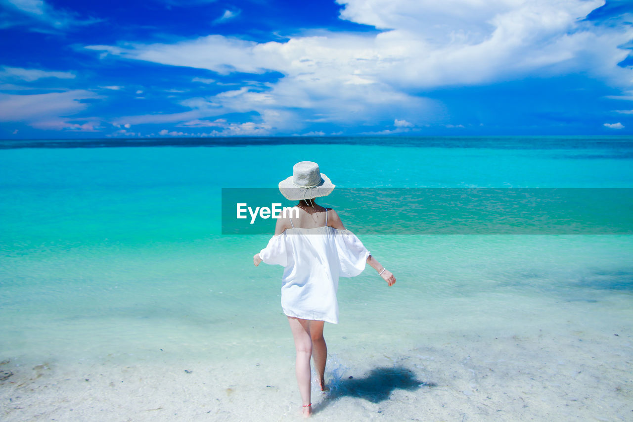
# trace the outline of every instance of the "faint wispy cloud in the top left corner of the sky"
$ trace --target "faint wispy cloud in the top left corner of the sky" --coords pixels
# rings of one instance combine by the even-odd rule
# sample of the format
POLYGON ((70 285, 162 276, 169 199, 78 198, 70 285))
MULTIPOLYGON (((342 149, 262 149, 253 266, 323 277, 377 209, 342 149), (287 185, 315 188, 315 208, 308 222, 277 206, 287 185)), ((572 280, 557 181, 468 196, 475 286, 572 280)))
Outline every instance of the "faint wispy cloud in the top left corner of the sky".
MULTIPOLYGON (((30 20, 43 23, 45 27, 53 27, 55 30, 68 29, 79 25, 92 25, 101 22, 98 18, 79 18, 77 13, 70 11, 56 10, 43 0, 0 0, 8 10, 20 13, 30 20)), ((13 19, 9 26, 23 24, 20 20, 13 19)), ((54 32, 50 29, 29 25, 30 30, 35 32, 54 32)))

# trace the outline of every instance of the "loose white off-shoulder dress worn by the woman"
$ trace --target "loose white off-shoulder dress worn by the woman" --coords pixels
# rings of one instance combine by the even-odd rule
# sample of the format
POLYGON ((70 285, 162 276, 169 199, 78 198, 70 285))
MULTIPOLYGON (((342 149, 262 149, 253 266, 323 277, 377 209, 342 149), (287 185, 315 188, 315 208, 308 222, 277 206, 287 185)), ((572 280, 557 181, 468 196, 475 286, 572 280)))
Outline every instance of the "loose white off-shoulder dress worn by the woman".
POLYGON ((337 324, 339 277, 358 276, 370 252, 354 233, 327 225, 294 227, 273 236, 260 252, 266 264, 284 267, 281 305, 284 314, 337 324))

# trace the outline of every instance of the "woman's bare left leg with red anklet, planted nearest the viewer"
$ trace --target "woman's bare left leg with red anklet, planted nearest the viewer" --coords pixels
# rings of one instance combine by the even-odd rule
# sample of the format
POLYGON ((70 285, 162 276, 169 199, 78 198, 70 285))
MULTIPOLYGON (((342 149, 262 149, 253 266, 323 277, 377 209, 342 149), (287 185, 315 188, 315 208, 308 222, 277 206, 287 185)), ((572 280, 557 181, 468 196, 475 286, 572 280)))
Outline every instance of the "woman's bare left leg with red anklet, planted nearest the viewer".
POLYGON ((295 372, 297 375, 297 383, 299 384, 299 393, 301 393, 301 401, 303 401, 303 414, 310 416, 312 409, 310 406, 311 393, 311 371, 310 357, 312 355, 312 340, 310 338, 310 321, 288 317, 292 337, 294 338, 294 348, 297 351, 295 363, 295 372))

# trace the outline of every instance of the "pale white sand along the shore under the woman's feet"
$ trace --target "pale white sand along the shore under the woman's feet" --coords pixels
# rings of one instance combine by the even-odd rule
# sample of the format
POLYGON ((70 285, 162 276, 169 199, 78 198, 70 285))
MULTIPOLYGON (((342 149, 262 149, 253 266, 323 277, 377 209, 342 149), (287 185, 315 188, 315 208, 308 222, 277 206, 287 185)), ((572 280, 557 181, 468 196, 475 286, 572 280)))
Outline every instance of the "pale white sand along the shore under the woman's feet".
MULTIPOLYGON (((322 395, 313 388, 313 419, 630 421, 633 345, 630 331, 614 329, 496 338, 482 331, 444 343, 436 337, 436 345, 410 350, 384 345, 370 351, 364 339, 331 338, 331 390, 322 395)), ((210 351, 208 361, 5 362, 0 368, 14 374, 0 382, 0 419, 301 419, 287 340, 265 357, 210 351)))

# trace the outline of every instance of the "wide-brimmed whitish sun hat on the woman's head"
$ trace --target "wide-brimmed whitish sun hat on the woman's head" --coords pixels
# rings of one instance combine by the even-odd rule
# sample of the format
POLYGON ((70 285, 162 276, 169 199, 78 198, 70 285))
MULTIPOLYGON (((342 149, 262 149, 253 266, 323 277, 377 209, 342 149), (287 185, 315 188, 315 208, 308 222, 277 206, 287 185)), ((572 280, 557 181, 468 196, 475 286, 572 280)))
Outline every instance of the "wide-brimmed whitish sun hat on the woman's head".
POLYGON ((327 196, 334 187, 329 177, 319 170, 318 164, 311 161, 296 163, 292 167, 292 176, 279 182, 279 191, 291 201, 327 196))

